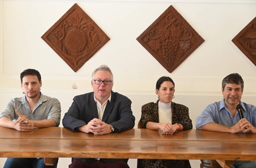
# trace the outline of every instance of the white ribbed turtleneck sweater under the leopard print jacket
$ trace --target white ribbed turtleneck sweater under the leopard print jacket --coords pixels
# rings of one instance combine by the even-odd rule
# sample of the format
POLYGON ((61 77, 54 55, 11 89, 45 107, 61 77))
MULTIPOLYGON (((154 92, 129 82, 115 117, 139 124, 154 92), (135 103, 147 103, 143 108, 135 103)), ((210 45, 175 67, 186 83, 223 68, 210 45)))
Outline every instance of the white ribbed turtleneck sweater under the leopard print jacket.
POLYGON ((172 124, 172 108, 170 103, 158 102, 159 123, 172 124))

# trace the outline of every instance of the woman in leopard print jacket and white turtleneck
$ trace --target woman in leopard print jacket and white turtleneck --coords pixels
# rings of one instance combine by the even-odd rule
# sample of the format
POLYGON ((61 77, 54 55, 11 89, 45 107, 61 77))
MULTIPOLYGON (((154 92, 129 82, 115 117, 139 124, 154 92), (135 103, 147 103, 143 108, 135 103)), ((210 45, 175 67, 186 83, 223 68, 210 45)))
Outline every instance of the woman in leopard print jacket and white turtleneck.
MULTIPOLYGON (((163 76, 156 84, 159 100, 142 106, 140 123, 142 128, 162 130, 162 134, 173 134, 178 130, 192 129, 189 109, 172 102, 174 82, 163 76)), ((191 168, 189 160, 138 159, 137 168, 191 168)))

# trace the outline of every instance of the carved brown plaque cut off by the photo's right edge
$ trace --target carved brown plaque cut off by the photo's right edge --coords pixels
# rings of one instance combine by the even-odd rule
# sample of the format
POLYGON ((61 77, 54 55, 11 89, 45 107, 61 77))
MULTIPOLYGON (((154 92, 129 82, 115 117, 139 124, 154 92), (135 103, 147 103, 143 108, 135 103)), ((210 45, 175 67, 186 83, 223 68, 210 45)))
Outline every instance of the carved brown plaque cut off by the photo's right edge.
POLYGON ((256 17, 232 39, 232 42, 256 66, 256 17))

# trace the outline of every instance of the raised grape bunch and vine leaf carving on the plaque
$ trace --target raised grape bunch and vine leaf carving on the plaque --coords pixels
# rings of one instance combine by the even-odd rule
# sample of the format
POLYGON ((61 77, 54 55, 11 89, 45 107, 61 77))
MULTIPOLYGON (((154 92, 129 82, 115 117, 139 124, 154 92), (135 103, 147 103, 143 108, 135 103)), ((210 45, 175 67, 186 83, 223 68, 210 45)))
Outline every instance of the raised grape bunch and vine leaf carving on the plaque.
POLYGON ((162 54, 162 59, 173 66, 177 59, 180 59, 184 53, 190 49, 195 39, 190 30, 182 26, 182 22, 173 15, 167 15, 164 21, 159 22, 161 29, 156 31, 153 28, 144 37, 144 42, 149 42, 149 46, 155 52, 158 50, 162 54))

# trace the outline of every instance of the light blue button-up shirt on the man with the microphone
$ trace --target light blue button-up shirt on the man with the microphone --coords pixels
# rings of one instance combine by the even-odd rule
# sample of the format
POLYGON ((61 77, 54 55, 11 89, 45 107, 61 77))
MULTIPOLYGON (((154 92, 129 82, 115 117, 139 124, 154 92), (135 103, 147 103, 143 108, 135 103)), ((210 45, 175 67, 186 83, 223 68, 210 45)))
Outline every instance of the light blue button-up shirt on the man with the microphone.
MULTIPOLYGON (((240 101, 240 105, 243 107, 243 115, 247 121, 249 121, 253 126, 256 126, 256 107, 250 104, 243 103, 240 101)), ((216 123, 223 126, 233 126, 240 120, 238 112, 236 112, 235 117, 232 116, 224 99, 220 102, 215 102, 208 105, 202 114, 196 118, 196 129, 201 129, 208 123, 216 123)))

